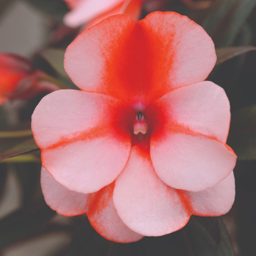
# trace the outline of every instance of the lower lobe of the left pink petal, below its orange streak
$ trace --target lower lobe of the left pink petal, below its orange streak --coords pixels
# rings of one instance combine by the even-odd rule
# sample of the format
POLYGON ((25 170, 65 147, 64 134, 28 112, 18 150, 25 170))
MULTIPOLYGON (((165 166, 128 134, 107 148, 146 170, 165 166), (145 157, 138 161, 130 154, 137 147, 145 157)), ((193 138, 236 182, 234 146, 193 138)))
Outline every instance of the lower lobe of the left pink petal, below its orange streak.
POLYGON ((42 151, 43 166, 68 189, 93 193, 113 182, 129 158, 130 142, 115 134, 42 151))

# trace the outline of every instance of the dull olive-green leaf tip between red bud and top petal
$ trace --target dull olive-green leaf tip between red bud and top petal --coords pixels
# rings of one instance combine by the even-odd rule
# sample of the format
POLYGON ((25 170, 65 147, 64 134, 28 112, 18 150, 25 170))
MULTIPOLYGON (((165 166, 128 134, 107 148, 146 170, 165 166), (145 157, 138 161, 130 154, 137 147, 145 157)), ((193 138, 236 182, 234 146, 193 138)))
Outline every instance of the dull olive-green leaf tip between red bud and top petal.
POLYGON ((64 70, 64 54, 65 50, 47 48, 39 53, 61 76, 69 79, 67 73, 64 70))

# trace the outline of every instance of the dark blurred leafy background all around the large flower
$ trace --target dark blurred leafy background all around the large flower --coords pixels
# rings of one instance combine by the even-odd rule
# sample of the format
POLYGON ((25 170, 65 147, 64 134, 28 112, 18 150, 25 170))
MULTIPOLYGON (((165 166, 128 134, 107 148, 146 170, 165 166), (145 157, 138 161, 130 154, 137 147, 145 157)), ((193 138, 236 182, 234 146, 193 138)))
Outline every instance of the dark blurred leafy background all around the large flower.
POLYGON ((75 28, 64 25, 71 9, 67 2, 0 0, 0 52, 22 55, 33 70, 27 73, 26 90, 20 85, 9 98, 0 98, 0 255, 255 255, 256 0, 144 2, 141 18, 154 10, 175 11, 213 38, 218 60, 207 80, 222 86, 230 99, 227 144, 238 155, 236 199, 222 218, 192 217, 173 234, 122 245, 100 237, 85 216, 57 215, 44 203, 40 188, 40 151, 30 130, 31 114, 52 90, 76 89, 63 68, 64 51, 88 27, 86 22, 75 28))

